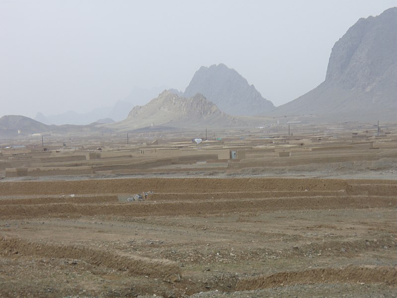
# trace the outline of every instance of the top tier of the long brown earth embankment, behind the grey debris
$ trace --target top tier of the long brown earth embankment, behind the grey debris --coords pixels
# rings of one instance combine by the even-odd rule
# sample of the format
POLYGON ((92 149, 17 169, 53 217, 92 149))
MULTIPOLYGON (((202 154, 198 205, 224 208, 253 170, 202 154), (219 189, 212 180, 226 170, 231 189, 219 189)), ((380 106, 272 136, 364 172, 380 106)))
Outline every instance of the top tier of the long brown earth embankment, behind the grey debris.
POLYGON ((7 195, 52 194, 126 194, 142 191, 155 193, 211 193, 219 191, 305 191, 342 190, 347 182, 338 179, 280 178, 147 178, 93 179, 80 181, 1 182, 0 193, 7 195))

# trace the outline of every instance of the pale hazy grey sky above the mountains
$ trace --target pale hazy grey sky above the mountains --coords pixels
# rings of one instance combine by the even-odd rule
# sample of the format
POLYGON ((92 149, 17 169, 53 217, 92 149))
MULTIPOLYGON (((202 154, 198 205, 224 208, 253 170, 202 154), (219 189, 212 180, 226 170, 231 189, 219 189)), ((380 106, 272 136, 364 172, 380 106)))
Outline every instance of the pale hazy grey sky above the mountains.
POLYGON ((184 91, 224 63, 278 106, 325 79, 333 44, 397 0, 0 0, 0 117, 184 91))

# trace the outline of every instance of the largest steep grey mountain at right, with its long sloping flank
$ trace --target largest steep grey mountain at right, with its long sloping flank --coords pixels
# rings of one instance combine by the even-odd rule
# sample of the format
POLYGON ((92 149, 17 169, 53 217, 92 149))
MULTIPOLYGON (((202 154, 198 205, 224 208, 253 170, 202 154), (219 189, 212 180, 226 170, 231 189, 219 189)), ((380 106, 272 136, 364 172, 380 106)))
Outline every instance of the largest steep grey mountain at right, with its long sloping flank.
POLYGON ((359 19, 333 46, 325 81, 273 113, 310 114, 335 120, 396 119, 397 7, 359 19))

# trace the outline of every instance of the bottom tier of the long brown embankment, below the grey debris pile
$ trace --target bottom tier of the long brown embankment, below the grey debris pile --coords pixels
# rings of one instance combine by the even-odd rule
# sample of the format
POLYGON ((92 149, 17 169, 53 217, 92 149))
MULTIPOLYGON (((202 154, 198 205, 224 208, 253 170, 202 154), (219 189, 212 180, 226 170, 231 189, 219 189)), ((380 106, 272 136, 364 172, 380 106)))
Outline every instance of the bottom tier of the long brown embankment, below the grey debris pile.
POLYGON ((249 211, 394 208, 397 197, 303 197, 219 201, 134 202, 119 204, 2 205, 0 218, 67 217, 93 215, 167 216, 249 211))

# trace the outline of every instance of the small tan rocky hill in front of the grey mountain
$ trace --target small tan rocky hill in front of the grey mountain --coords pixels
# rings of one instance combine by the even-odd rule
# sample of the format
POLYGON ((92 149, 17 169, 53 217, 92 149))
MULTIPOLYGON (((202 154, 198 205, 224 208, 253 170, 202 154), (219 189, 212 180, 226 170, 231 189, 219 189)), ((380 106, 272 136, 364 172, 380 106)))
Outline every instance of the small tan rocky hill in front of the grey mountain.
POLYGON ((119 129, 138 129, 148 126, 167 127, 230 127, 247 126, 236 117, 221 112, 202 94, 185 98, 172 91, 163 91, 144 106, 135 106, 127 119, 112 125, 119 129))

